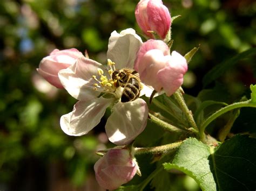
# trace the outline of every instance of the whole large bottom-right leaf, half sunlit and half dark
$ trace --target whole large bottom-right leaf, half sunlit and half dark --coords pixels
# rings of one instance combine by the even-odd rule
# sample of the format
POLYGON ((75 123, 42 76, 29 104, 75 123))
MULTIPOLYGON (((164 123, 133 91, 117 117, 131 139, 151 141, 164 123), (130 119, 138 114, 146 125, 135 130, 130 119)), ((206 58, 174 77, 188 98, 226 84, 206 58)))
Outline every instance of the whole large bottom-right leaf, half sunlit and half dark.
POLYGON ((191 176, 202 190, 255 190, 256 139, 234 136, 215 151, 195 138, 180 145, 171 163, 172 168, 191 176))

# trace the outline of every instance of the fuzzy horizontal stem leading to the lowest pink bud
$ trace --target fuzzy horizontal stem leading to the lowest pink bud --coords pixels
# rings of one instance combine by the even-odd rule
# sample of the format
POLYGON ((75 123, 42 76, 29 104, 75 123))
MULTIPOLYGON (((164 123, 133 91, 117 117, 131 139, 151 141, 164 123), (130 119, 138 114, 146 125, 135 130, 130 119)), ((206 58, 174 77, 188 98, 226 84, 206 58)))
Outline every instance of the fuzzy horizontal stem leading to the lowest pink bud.
POLYGON ((176 150, 182 142, 170 143, 161 146, 154 146, 154 147, 145 147, 145 148, 134 148, 134 154, 160 154, 160 153, 168 153, 170 151, 176 150))

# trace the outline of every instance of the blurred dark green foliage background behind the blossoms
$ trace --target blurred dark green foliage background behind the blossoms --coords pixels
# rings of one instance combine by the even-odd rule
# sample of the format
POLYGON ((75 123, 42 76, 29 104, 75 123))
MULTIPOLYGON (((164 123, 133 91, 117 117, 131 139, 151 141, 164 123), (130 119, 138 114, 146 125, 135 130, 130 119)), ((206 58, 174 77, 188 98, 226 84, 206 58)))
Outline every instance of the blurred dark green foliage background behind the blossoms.
MULTIPOLYGON (((36 68, 53 49, 87 50, 106 63, 113 30, 132 27, 138 1, 0 1, 0 190, 101 190, 94 178, 97 150, 111 145, 105 118, 89 135, 70 137, 59 118, 76 100, 38 75, 36 68)), ((253 0, 165 0, 172 16, 173 50, 185 54, 200 44, 184 80, 197 96, 203 76, 215 65, 256 45, 253 0)), ((255 58, 254 58, 255 59, 255 58)), ((230 102, 255 84, 254 59, 244 59, 218 80, 230 102)), ((213 88, 210 84, 205 88, 213 88)), ((171 190, 197 190, 186 176, 171 190)))

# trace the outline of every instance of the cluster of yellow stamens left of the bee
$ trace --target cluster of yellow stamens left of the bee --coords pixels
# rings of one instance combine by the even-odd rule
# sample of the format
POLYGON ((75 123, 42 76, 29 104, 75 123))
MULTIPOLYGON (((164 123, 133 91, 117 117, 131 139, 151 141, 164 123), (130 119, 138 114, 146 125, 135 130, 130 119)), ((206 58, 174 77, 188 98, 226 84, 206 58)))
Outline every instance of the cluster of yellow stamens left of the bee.
POLYGON ((119 76, 116 76, 116 78, 112 79, 113 71, 116 70, 116 67, 114 66, 116 63, 111 61, 110 59, 107 59, 107 75, 104 75, 104 70, 101 68, 98 68, 97 75, 93 75, 92 79, 95 80, 95 84, 93 84, 95 90, 102 91, 105 93, 111 93, 117 96, 117 87, 116 83, 119 80, 119 76))

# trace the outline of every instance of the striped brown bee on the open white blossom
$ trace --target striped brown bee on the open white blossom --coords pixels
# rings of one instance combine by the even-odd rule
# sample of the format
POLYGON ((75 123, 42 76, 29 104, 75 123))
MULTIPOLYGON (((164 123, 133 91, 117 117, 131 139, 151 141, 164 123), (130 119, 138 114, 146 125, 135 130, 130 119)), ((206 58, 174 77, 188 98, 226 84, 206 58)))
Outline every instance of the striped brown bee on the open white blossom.
POLYGON ((114 70, 112 79, 116 88, 123 87, 121 102, 130 102, 139 97, 142 84, 139 77, 135 75, 137 72, 131 69, 114 70))

